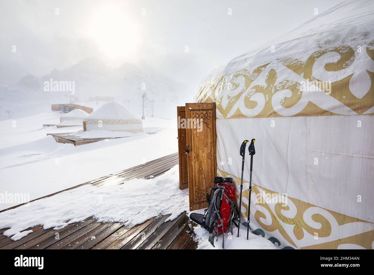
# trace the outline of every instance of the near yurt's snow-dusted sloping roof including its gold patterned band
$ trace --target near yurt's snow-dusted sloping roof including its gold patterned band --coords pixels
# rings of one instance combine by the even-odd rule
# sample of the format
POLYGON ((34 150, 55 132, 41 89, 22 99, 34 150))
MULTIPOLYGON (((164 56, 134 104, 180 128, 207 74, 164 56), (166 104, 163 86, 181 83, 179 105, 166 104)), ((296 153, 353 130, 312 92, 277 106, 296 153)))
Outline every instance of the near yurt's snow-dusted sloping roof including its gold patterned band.
POLYGON ((194 101, 215 101, 218 118, 290 116, 305 107, 309 110, 300 115, 374 113, 374 96, 369 92, 369 73, 374 71, 373 18, 373 1, 344 1, 211 71, 202 79, 194 101), (331 94, 323 97, 321 90, 327 89, 317 89, 313 95, 298 93, 300 85, 313 80, 331 81, 331 94), (350 93, 334 93, 341 87, 350 93), (307 101, 317 107, 304 106, 307 101))

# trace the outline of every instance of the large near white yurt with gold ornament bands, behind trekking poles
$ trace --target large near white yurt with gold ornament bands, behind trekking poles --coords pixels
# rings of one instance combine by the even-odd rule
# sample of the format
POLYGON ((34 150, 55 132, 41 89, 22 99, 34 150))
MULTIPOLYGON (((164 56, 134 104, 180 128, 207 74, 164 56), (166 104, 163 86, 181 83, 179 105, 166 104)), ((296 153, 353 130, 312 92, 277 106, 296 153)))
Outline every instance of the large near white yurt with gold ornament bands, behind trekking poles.
POLYGON ((194 98, 216 103, 217 174, 237 198, 255 138, 250 224, 280 248, 374 248, 373 18, 374 1, 338 4, 212 71, 194 98))

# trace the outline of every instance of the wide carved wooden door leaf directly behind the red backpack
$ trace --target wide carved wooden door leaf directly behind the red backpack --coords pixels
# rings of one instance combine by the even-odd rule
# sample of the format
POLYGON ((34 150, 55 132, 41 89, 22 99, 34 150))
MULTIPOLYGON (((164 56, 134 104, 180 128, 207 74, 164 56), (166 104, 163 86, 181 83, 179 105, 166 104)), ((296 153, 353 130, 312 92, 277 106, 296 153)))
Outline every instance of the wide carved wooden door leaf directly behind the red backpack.
POLYGON ((186 103, 190 211, 208 207, 206 190, 217 175, 215 119, 215 103, 186 103))

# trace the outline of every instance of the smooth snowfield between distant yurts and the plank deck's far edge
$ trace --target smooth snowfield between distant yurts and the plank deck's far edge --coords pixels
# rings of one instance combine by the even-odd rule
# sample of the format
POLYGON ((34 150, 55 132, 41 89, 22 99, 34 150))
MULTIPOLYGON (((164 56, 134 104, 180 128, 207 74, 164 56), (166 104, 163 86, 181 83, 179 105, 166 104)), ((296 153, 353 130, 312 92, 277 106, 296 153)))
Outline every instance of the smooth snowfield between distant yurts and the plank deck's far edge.
MULTIPOLYGON (((178 151, 177 122, 146 117, 145 132, 75 147, 57 143, 47 133, 77 132, 82 127, 58 124, 61 113, 46 113, 0 122, 0 195, 25 194, 28 199, 76 186, 178 151)), ((14 196, 12 198, 15 198, 14 196)), ((23 201, 5 198, 0 209, 23 201)))

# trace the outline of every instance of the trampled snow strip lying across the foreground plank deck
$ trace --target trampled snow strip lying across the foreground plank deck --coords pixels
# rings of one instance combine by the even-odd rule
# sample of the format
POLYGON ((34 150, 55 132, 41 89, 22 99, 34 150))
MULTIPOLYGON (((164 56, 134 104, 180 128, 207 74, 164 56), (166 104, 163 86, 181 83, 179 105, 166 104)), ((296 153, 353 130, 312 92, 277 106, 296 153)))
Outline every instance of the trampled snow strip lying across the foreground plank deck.
POLYGON ((188 211, 188 189, 179 189, 178 165, 156 178, 132 179, 113 186, 85 185, 0 213, 5 236, 18 239, 42 224, 44 229, 96 217, 133 226, 159 214, 174 220, 188 211))

